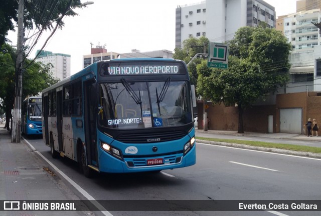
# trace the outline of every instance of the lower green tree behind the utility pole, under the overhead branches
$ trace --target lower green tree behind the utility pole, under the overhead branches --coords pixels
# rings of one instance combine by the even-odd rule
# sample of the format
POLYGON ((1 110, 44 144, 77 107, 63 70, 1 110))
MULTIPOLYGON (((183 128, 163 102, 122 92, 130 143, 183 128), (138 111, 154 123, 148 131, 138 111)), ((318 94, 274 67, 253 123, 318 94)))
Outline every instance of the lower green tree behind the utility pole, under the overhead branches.
MULTIPOLYGON (((5 128, 8 130, 10 130, 9 121, 12 119, 11 110, 14 108, 16 51, 9 44, 4 44, 0 51, 0 98, 3 99, 0 108, 6 112, 5 128)), ((26 59, 26 63, 31 63, 31 60, 26 59)), ((23 71, 22 98, 28 95, 38 95, 42 89, 58 82, 58 79, 54 78, 50 72, 51 67, 51 64, 33 62, 23 71)))

